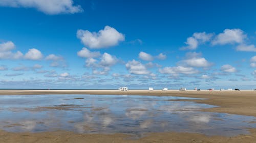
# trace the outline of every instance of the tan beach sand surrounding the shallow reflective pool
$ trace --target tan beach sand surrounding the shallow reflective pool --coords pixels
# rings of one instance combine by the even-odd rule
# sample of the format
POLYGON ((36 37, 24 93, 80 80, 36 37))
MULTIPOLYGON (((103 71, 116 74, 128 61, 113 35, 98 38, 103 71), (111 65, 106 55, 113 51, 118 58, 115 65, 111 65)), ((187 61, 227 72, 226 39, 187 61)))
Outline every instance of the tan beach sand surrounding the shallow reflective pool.
MULTIPOLYGON (((1 90, 0 95, 36 94, 95 94, 95 95, 155 95, 207 98, 189 100, 219 107, 202 109, 203 111, 231 113, 256 117, 256 91, 148 91, 130 90, 1 90)), ((187 101, 187 100, 179 100, 187 101)), ((132 139, 126 134, 79 134, 68 131, 41 133, 11 133, 0 131, 0 142, 254 142, 256 129, 250 129, 249 135, 234 137, 206 136, 197 133, 150 133, 140 139, 132 139)))

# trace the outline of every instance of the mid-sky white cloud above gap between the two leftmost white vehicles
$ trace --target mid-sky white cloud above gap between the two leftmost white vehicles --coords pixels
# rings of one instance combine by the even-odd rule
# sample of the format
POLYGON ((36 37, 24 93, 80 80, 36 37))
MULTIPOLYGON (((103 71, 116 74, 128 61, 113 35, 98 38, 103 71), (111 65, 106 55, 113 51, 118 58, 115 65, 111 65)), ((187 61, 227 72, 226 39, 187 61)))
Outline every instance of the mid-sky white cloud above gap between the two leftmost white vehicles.
POLYGON ((146 69, 146 66, 135 60, 126 63, 125 67, 132 74, 150 74, 150 71, 146 69))

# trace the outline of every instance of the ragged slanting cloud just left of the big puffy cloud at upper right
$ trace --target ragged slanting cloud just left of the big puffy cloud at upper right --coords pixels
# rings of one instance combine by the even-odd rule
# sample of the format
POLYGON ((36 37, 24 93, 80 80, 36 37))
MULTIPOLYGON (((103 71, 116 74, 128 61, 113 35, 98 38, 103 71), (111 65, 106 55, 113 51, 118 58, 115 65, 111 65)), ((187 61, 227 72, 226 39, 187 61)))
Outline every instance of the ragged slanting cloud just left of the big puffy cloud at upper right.
POLYGON ((188 37, 185 44, 187 46, 182 47, 182 50, 194 50, 197 49, 199 44, 203 44, 211 39, 213 34, 206 34, 205 32, 202 33, 194 33, 192 37, 188 37))

